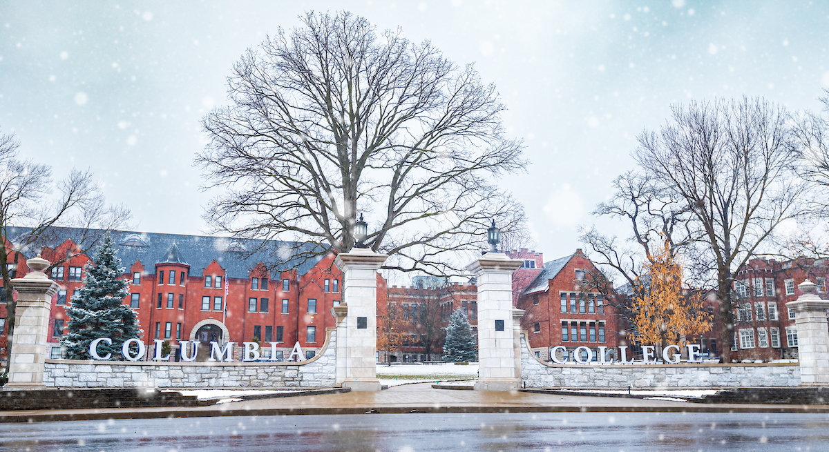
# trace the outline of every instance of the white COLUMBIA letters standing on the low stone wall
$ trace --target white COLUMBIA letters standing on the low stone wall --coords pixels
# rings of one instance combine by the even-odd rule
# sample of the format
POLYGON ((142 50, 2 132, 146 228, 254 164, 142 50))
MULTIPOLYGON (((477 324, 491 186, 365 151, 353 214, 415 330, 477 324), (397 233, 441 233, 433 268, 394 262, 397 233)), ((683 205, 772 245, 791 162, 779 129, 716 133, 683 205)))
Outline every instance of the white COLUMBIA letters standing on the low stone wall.
MULTIPOLYGON (((99 355, 98 345, 102 342, 104 344, 112 345, 112 339, 109 338, 98 338, 90 342, 90 356, 96 361, 109 360, 109 358, 112 358, 112 353, 106 353, 104 356, 99 355)), ((155 343, 155 356, 153 356, 153 361, 169 361, 170 353, 167 353, 167 356, 161 355, 161 348, 164 341, 161 339, 154 339, 153 342, 155 343)), ((198 352, 199 344, 201 343, 192 340, 182 340, 179 341, 179 344, 182 346, 182 361, 187 363, 196 361, 196 353, 198 352), (191 355, 187 354, 188 344, 193 344, 193 352, 191 355)), ((270 344, 269 361, 276 361, 276 346, 280 343, 269 342, 268 344, 270 344)), ((207 361, 223 361, 225 363, 233 362, 233 346, 235 345, 235 342, 228 342, 222 346, 218 342, 213 341, 210 345, 211 353, 210 358, 207 361)), ((259 358, 261 357, 261 354, 259 353, 259 344, 256 344, 255 342, 243 342, 242 347, 244 349, 242 352, 243 362, 250 363, 253 361, 259 361, 259 358)), ((121 355, 124 356, 124 359, 127 361, 140 361, 144 358, 146 353, 147 348, 138 338, 125 340, 124 346, 121 347, 121 355), (133 353, 132 350, 130 350, 130 347, 133 344, 135 344, 138 349, 137 353, 133 353)), ((288 355, 288 359, 286 359, 286 361, 302 361, 303 359, 303 349, 299 346, 299 342, 297 342, 296 344, 293 344, 293 350, 291 351, 291 354, 288 355), (296 358, 294 358, 294 356, 296 358)))

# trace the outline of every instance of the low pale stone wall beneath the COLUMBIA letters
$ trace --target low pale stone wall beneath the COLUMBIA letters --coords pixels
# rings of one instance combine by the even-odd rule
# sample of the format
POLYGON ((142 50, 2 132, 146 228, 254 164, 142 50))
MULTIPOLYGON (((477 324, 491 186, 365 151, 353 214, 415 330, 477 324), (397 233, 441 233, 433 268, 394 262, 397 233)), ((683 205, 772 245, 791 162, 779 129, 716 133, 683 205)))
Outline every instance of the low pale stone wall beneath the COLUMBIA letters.
POLYGON ((298 363, 162 363, 46 359, 47 387, 332 387, 336 329, 322 351, 298 363))

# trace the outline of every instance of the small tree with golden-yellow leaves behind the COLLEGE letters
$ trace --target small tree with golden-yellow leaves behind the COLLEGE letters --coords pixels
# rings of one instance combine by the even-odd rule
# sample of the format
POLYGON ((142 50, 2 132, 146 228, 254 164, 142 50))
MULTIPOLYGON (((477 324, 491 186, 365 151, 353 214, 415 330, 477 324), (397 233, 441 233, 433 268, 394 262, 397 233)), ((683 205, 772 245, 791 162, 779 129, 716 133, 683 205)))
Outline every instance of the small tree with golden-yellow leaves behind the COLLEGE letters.
POLYGON ((711 315, 703 309, 695 291, 682 288, 682 267, 672 256, 670 243, 652 254, 647 262, 649 281, 640 281, 643 291, 633 298, 633 325, 639 344, 678 344, 682 336, 710 329, 711 315))

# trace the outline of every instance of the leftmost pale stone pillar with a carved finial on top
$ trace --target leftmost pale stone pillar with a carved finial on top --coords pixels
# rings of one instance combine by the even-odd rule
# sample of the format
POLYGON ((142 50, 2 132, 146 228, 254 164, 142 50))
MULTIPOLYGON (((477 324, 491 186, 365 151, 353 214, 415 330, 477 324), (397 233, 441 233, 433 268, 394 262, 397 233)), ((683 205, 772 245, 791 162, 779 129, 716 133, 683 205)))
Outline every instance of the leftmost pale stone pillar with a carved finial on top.
POLYGON ((17 317, 9 356, 7 389, 38 389, 43 386, 43 363, 46 361, 46 339, 49 337, 51 297, 61 286, 51 281, 43 270, 49 261, 40 254, 27 260, 32 272, 12 279, 17 290, 17 317))

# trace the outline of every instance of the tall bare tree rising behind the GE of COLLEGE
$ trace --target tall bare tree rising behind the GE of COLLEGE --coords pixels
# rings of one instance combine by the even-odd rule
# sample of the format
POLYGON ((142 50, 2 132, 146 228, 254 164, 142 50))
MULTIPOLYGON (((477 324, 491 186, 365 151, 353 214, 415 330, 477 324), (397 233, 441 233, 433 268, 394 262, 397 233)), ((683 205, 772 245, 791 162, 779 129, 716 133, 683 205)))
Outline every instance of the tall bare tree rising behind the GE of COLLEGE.
POLYGON ((686 204, 702 237, 701 262, 720 304, 723 358, 730 362, 734 271, 762 252, 787 219, 804 214, 789 115, 763 99, 674 106, 671 122, 643 132, 634 158, 666 195, 686 204))

